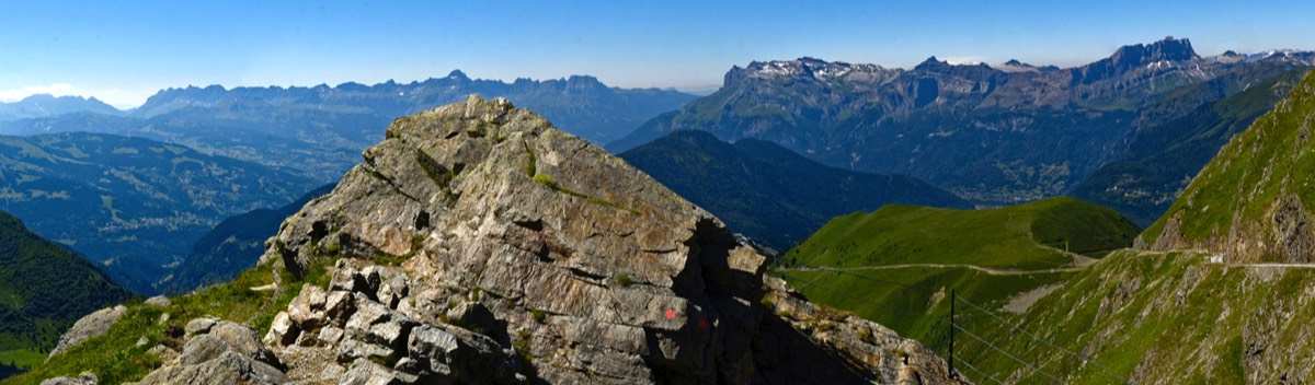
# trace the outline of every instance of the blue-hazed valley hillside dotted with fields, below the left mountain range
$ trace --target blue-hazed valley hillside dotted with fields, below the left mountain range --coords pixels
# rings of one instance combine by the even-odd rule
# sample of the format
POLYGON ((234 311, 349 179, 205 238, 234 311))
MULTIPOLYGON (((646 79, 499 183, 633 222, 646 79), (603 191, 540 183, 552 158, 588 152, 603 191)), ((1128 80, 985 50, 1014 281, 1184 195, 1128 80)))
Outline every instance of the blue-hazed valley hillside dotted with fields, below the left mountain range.
POLYGON ((314 188, 266 166, 142 138, 0 137, 0 209, 154 293, 221 219, 281 206, 314 188))

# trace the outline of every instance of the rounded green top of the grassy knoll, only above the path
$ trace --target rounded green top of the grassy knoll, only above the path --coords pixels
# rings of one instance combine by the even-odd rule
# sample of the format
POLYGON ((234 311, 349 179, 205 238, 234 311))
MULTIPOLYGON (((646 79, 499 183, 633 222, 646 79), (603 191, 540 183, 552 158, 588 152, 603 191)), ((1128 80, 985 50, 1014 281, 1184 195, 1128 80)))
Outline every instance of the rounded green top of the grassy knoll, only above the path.
POLYGON ((1048 247, 1099 256, 1130 246, 1136 233, 1114 210, 1070 197, 982 210, 889 205, 835 218, 784 258, 786 264, 813 267, 936 263, 1036 269, 1072 261, 1048 247))

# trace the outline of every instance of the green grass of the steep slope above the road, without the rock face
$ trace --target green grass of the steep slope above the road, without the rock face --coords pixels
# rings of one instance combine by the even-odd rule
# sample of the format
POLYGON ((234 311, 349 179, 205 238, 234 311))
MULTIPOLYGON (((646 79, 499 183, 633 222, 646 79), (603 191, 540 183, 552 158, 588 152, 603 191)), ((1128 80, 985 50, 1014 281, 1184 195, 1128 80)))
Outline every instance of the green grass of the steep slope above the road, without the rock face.
POLYGON ((1264 222, 1276 200, 1295 196, 1315 204, 1315 156, 1308 137, 1315 113, 1315 78, 1306 76, 1274 110, 1228 142, 1180 198, 1143 237, 1153 243, 1168 218, 1182 215, 1182 237, 1203 242, 1226 237, 1239 223, 1264 222))

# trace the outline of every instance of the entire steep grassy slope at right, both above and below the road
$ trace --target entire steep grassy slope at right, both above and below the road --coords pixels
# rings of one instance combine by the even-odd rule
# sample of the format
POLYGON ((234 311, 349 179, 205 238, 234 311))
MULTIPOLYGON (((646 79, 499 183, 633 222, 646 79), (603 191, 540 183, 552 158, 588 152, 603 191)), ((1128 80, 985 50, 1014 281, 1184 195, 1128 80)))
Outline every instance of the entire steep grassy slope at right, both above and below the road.
MULTIPOLYGON (((1273 112, 1219 151, 1144 239, 1153 243, 1168 218, 1181 215, 1186 242, 1170 247, 1210 244, 1232 230, 1244 230, 1244 242, 1265 240, 1273 227, 1266 218, 1278 200, 1312 202, 1312 112, 1315 79, 1307 75, 1273 112)), ((981 311, 960 321, 1034 367, 970 339, 960 348, 961 359, 1019 384, 1052 382, 1041 372, 1069 384, 1315 380, 1315 330, 1308 322, 1315 318, 1315 269, 1207 260, 1181 251, 1119 251, 1076 273, 1028 313, 1006 315, 1086 360, 1020 336, 981 311)))

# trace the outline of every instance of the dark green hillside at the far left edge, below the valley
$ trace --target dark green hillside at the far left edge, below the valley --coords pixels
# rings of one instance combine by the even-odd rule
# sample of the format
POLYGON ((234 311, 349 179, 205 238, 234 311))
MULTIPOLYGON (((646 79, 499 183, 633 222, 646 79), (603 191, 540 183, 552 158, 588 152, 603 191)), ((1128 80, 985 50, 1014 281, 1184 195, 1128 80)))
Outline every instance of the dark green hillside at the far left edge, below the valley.
POLYGON ((41 363, 79 318, 132 296, 96 265, 0 212, 0 364, 41 363))

